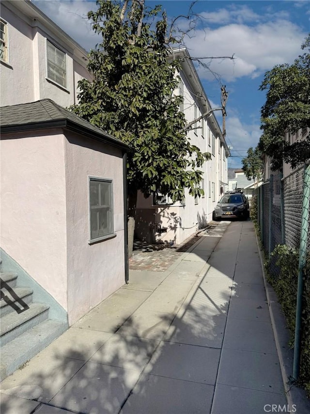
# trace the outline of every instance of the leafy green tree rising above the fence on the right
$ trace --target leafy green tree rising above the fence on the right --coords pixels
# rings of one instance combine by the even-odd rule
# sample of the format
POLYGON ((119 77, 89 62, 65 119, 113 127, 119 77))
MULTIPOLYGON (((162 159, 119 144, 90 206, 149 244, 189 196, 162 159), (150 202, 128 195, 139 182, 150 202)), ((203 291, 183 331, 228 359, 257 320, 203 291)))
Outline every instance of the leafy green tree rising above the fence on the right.
POLYGON ((277 65, 265 73, 260 90, 266 91, 261 110, 263 134, 259 148, 272 159, 272 169, 285 161, 293 168, 310 157, 310 136, 293 144, 284 134, 310 127, 310 35, 301 46, 305 52, 294 64, 277 65))

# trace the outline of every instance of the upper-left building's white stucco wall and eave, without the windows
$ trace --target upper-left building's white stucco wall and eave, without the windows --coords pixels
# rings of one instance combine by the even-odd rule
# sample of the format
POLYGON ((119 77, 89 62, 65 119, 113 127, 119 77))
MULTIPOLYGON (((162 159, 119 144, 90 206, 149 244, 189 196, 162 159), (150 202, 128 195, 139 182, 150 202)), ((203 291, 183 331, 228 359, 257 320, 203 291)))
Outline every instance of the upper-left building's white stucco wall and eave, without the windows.
POLYGON ((1 106, 45 98, 63 107, 76 103, 78 80, 91 79, 86 61, 82 60, 85 56, 48 31, 41 21, 21 15, 14 3, 10 8, 1 5, 1 18, 7 22, 9 39, 9 62, 0 63, 1 106), (47 39, 66 53, 65 88, 47 79, 47 39))

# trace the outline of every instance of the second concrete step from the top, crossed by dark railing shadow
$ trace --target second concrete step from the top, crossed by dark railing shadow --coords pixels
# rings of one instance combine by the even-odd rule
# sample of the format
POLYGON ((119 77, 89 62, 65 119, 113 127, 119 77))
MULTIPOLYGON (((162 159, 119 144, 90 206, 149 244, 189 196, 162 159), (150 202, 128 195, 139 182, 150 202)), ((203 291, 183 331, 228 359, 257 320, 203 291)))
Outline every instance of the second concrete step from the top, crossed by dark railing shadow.
MULTIPOLYGON (((33 290, 28 287, 14 287, 11 291, 2 288, 4 298, 0 300, 0 316, 8 315, 10 312, 16 312, 16 309, 24 309, 25 305, 32 302, 33 290)), ((2 322, 2 321, 1 321, 2 322)))

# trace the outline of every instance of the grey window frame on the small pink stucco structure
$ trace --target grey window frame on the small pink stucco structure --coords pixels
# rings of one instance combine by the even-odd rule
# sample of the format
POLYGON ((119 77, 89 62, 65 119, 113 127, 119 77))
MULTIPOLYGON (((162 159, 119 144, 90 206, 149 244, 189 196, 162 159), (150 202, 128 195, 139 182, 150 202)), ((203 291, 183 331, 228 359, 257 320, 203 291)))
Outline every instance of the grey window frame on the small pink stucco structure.
MULTIPOLYGON (((113 207, 113 180, 109 179, 109 178, 101 178, 101 177, 93 177, 93 176, 89 176, 88 177, 88 197, 89 197, 89 244, 92 243, 96 243, 99 241, 103 241, 103 240, 107 240, 110 239, 112 237, 116 236, 116 233, 114 233, 114 207, 113 207), (109 183, 109 204, 106 205, 101 205, 101 197, 100 197, 100 185, 99 185, 99 193, 98 193, 98 201, 99 204, 96 205, 92 205, 92 194, 91 194, 91 182, 98 182, 98 184, 100 183, 109 183), (93 235, 92 234, 92 211, 94 210, 101 210, 101 209, 108 209, 108 219, 109 219, 109 224, 107 225, 108 227, 108 232, 101 232, 101 234, 99 234, 99 223, 98 223, 98 229, 97 232, 98 234, 93 235)), ((99 213, 99 211, 97 212, 99 213)), ((99 215, 97 215, 97 219, 99 220, 99 215)))

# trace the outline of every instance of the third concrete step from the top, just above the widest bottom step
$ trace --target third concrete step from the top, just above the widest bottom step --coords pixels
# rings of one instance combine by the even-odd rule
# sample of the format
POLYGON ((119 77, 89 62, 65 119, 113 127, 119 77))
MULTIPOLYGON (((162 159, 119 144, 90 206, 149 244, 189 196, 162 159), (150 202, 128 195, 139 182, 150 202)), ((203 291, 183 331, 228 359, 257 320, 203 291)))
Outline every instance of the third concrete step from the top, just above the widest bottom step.
POLYGON ((49 306, 44 303, 31 303, 22 313, 10 312, 1 316, 0 344, 6 345, 19 335, 48 318, 49 306))

